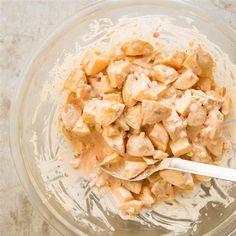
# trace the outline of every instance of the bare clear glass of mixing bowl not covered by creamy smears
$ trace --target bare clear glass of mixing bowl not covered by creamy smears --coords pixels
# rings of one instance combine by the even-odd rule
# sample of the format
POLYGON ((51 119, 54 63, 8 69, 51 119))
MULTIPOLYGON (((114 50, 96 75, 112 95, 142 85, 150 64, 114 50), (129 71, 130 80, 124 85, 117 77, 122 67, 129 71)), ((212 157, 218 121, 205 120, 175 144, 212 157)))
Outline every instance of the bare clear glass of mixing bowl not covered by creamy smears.
MULTIPOLYGON (((225 25, 217 16, 209 16, 209 13, 193 6, 191 3, 180 1, 155 1, 155 0, 113 0, 99 1, 89 4, 67 22, 60 26, 35 53, 24 74, 22 85, 18 90, 15 102, 11 108, 10 120, 10 145, 16 170, 23 186, 36 208, 45 217, 47 222, 64 235, 107 235, 113 234, 109 228, 99 232, 96 228, 86 226, 78 217, 77 221, 50 195, 44 184, 42 173, 38 168, 38 156, 36 147, 40 152, 47 152, 53 160, 54 150, 51 137, 53 119, 55 118, 56 103, 51 98, 41 101, 42 89, 49 81, 49 72, 55 65, 57 58, 61 58, 64 50, 73 52, 75 42, 81 42, 82 37, 88 31, 89 24, 94 19, 110 18, 116 22, 122 16, 141 16, 152 14, 166 14, 178 16, 178 24, 182 24, 181 17, 189 17, 201 33, 217 44, 236 63, 236 34, 225 25), (206 17, 207 15, 207 17, 206 17), (37 112, 37 117, 35 113, 37 112), (47 124, 45 126, 45 124, 47 124), (34 132, 39 136, 34 139, 34 132), (105 232, 105 233, 104 233, 105 232)), ((235 84, 235 81, 227 81, 235 84)), ((51 178, 54 178, 52 176, 51 178)), ((50 178, 50 176, 48 177, 50 178)), ((82 180, 80 180, 82 181, 82 180)), ((232 195, 236 195, 235 187, 231 189, 232 195)), ((229 207, 208 207, 198 220, 198 227, 189 229, 181 235, 228 235, 236 226, 236 201, 229 207), (221 214, 219 214, 221 213, 221 214)), ((85 214, 86 219, 96 221, 96 216, 91 216, 90 209, 85 214)), ((148 227, 138 223, 123 222, 115 214, 107 214, 111 222, 116 223, 115 235, 162 235, 168 231, 161 227, 148 227)), ((173 220, 173 225, 178 224, 178 219, 173 220)), ((233 234, 232 234, 233 235, 233 234)))

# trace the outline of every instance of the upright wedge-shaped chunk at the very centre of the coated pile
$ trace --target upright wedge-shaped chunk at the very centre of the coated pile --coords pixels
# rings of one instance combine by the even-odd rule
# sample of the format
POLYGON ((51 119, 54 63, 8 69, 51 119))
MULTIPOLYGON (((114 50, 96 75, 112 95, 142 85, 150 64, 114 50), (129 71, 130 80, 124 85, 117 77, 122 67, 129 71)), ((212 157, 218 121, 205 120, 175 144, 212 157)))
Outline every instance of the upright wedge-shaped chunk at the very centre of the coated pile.
POLYGON ((141 117, 141 105, 138 104, 133 107, 129 107, 125 112, 126 123, 133 128, 135 131, 139 132, 142 122, 141 117))

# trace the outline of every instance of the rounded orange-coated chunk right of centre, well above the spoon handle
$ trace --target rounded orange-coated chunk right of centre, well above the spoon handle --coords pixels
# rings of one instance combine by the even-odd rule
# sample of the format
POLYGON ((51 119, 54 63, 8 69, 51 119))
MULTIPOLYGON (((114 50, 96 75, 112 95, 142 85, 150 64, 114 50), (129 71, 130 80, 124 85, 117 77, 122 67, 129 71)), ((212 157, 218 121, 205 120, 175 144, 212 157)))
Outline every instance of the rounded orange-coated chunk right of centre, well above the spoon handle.
POLYGON ((207 118, 207 110, 200 102, 192 103, 189 107, 188 125, 201 126, 205 123, 207 118))

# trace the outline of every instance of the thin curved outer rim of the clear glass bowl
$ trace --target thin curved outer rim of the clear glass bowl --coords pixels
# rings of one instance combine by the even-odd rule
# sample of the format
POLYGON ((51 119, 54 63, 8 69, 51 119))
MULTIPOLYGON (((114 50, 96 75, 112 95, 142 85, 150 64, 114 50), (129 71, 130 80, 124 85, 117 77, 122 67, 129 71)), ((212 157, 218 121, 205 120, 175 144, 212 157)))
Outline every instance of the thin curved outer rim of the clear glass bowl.
MULTIPOLYGON (((56 40, 57 37, 63 34, 63 32, 73 23, 75 23, 78 19, 86 18, 89 14, 93 12, 101 11, 102 7, 106 7, 109 9, 114 7, 114 5, 124 6, 131 5, 134 0, 97 0, 93 3, 88 3, 85 7, 81 7, 78 9, 78 12, 74 13, 70 17, 68 17, 63 23, 56 26, 54 30, 42 40, 43 43, 40 44, 36 52, 31 56, 31 59, 26 63, 24 72, 21 75, 21 79, 16 91, 16 96, 12 100, 11 108, 10 108, 10 119, 9 119, 9 146, 11 151, 11 160, 13 161, 15 170, 17 172, 18 178, 24 188, 24 191, 27 194, 30 202, 40 212, 40 215, 43 216, 43 219, 57 232, 59 233, 71 233, 86 235, 85 232, 80 231, 78 228, 73 225, 67 223, 64 218, 55 210, 48 200, 45 198, 43 193, 39 190, 37 183, 34 181, 34 177, 30 173, 29 166, 25 162, 23 155, 21 153, 21 144, 19 142, 19 132, 21 130, 21 125, 18 120, 18 114, 20 114, 21 107, 23 105, 24 94, 27 92, 27 87, 31 82, 31 77, 33 75, 33 65, 40 59, 43 52, 49 47, 50 44, 56 40), (20 104, 20 106, 19 106, 20 104)), ((185 8, 191 9, 195 14, 200 13, 198 17, 203 18, 201 15, 204 10, 200 8, 200 6, 196 6, 196 4, 181 1, 181 0, 136 0, 135 4, 162 4, 168 7, 173 7, 174 5, 181 5, 185 8), (171 6, 170 6, 171 4, 171 6)), ((215 14, 207 12, 207 17, 204 16, 205 19, 211 19, 215 14)), ((216 17, 216 15, 215 15, 216 17)), ((223 30, 231 31, 235 35, 231 40, 236 45, 236 31, 235 29, 227 24, 224 20, 221 20, 221 25, 224 26, 223 30)), ((214 24, 214 27, 219 28, 214 24)), ((212 233, 219 232, 218 230, 222 230, 222 226, 229 225, 230 222, 236 222, 236 212, 233 212, 231 216, 227 218, 226 222, 222 222, 217 228, 211 230, 206 235, 212 235, 212 233)), ((224 227, 225 228, 225 227, 224 227)), ((234 230, 234 229, 233 229, 234 230)))

